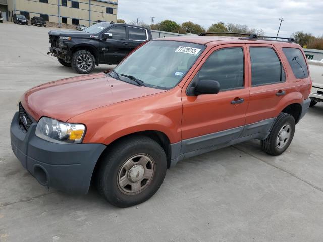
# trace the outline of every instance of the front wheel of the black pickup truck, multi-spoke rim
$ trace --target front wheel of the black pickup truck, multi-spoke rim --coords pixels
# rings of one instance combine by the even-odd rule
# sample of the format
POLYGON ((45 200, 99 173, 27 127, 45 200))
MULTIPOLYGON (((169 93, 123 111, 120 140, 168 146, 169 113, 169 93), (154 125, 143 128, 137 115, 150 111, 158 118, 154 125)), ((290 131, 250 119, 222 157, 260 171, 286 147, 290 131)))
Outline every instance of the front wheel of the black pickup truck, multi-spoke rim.
POLYGON ((86 50, 78 50, 72 56, 72 68, 81 74, 88 74, 95 67, 93 54, 86 50))

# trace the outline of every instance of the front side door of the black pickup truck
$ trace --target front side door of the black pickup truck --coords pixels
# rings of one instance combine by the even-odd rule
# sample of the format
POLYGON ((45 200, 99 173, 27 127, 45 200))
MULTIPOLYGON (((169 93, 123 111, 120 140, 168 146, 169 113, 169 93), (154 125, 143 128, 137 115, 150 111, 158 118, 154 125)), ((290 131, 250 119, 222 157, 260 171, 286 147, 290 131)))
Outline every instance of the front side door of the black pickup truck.
POLYGON ((115 26, 106 31, 106 33, 112 34, 112 38, 104 39, 103 58, 105 64, 118 64, 131 51, 126 30, 126 26, 115 26))

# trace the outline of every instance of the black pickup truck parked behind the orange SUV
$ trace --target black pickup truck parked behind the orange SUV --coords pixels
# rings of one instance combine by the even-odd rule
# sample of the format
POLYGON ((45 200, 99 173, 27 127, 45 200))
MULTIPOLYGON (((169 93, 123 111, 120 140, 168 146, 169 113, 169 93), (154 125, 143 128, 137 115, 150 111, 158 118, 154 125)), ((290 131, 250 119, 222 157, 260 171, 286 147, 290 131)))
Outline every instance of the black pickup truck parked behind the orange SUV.
POLYGON ((83 31, 49 31, 47 54, 57 57, 63 66, 81 74, 93 71, 95 65, 118 64, 143 42, 151 40, 147 28, 114 22, 102 22, 83 31))

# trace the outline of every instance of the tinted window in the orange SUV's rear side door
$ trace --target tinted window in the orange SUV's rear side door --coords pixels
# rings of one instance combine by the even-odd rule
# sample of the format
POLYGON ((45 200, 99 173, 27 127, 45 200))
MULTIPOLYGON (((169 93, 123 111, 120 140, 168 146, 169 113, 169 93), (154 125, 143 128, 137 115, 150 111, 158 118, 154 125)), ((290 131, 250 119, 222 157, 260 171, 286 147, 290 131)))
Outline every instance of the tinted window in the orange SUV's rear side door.
POLYGON ((252 86, 284 82, 285 73, 272 48, 250 48, 252 86))

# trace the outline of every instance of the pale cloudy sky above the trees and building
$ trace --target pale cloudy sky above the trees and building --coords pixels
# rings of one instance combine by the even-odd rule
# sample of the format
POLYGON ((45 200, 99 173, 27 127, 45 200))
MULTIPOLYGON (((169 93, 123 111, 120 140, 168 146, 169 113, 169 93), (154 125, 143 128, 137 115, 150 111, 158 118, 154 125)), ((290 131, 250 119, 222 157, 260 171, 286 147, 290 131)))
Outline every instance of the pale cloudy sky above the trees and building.
POLYGON ((193 21, 208 28, 217 22, 245 24, 264 30, 266 35, 289 37, 304 31, 323 36, 323 0, 118 0, 118 19, 151 24, 170 19, 181 24, 193 21))

